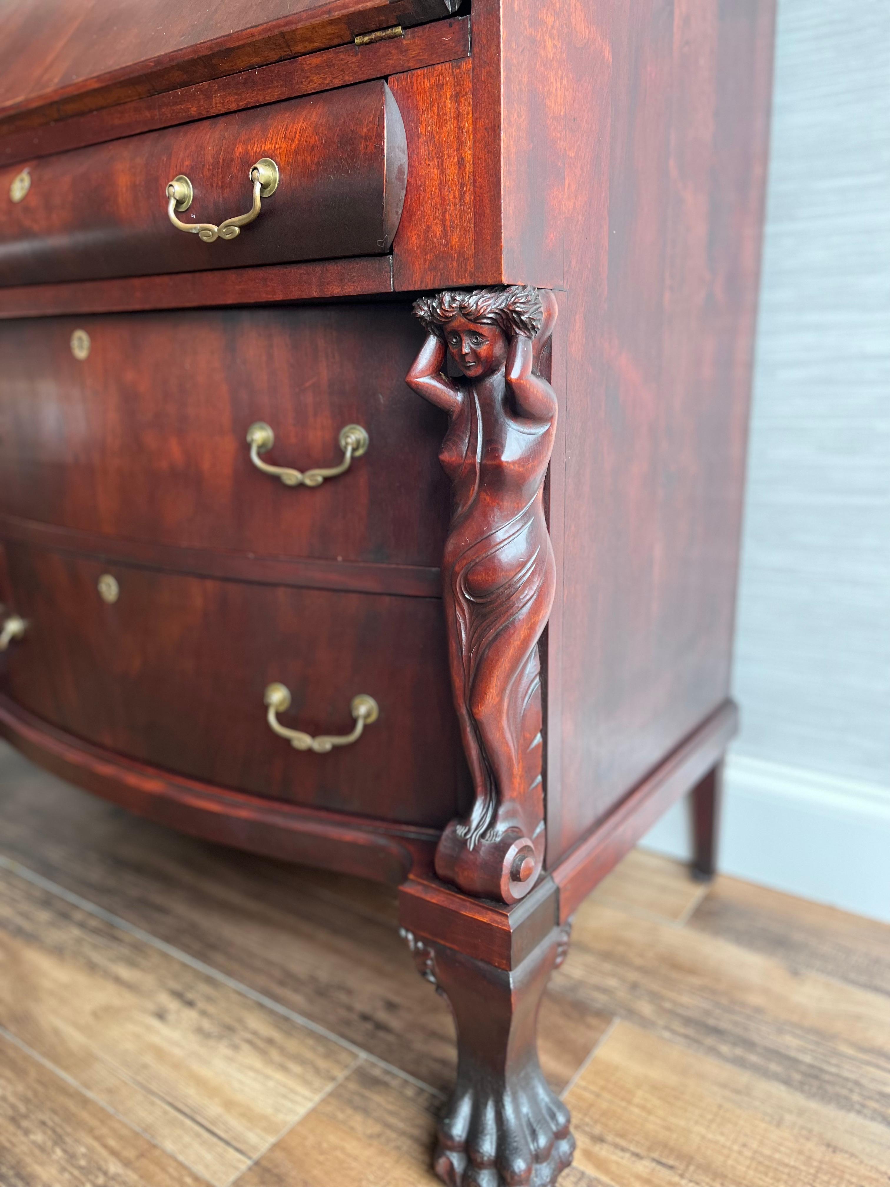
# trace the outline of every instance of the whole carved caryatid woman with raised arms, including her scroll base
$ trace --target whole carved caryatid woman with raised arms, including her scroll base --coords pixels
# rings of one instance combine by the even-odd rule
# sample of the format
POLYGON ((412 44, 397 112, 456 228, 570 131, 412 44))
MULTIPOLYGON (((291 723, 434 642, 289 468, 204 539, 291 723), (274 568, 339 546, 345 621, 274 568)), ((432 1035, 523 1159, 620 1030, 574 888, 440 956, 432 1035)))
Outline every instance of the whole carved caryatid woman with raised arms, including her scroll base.
POLYGON ((535 374, 557 305, 528 286, 444 292, 414 305, 427 339, 407 376, 447 412, 452 483, 443 558, 451 680, 475 798, 436 853, 439 877, 515 902, 543 861, 538 641, 555 566, 543 480, 557 398, 535 374), (446 356, 452 370, 444 373, 446 356))

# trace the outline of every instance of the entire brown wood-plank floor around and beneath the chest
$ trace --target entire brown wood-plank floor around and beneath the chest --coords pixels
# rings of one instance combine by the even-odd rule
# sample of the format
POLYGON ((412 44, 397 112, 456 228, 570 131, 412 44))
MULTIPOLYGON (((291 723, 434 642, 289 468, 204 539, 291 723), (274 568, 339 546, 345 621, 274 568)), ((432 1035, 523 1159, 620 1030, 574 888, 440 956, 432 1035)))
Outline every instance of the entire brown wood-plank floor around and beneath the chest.
MULTIPOLYGON (((890 1183, 890 927, 630 857, 541 1017, 560 1187, 890 1183)), ((1 1187, 414 1187, 453 1072, 388 889, 165 832, 0 743, 1 1187)))

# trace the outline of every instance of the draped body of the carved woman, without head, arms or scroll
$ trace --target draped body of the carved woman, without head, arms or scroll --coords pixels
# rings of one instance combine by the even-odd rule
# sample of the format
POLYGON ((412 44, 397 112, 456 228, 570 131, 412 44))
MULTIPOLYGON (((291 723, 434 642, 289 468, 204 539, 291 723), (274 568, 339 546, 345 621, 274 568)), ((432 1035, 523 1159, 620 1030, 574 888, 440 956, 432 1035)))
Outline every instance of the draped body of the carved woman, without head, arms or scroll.
POLYGON ((526 817, 542 815, 538 641, 555 588, 542 487, 555 417, 516 415, 503 373, 460 383, 459 392, 439 452, 452 483, 443 596, 476 791, 459 831, 473 848, 511 827, 523 832, 526 817))

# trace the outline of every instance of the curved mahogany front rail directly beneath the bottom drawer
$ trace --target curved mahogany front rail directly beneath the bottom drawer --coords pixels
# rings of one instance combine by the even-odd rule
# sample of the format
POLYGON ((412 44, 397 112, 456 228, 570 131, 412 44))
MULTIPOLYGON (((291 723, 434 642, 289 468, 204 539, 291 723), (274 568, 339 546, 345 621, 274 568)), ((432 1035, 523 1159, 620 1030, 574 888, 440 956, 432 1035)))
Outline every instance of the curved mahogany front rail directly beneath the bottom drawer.
POLYGON ((398 886, 436 833, 274 804, 133 762, 53 729, 0 694, 0 735, 32 762, 169 829, 221 845, 398 886))

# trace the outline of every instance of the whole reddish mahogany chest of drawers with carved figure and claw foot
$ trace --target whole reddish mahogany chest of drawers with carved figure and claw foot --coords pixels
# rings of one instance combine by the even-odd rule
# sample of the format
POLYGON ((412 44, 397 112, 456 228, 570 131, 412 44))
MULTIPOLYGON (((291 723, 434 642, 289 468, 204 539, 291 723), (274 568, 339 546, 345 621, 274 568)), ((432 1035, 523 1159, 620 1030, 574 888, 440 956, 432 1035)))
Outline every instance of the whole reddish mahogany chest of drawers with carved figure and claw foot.
POLYGON ((398 884, 436 1170, 553 1182, 538 1003, 692 792, 713 871, 771 0, 0 13, 0 730, 398 884))

